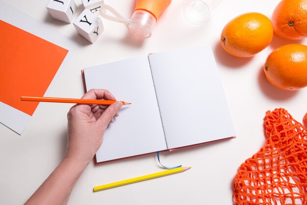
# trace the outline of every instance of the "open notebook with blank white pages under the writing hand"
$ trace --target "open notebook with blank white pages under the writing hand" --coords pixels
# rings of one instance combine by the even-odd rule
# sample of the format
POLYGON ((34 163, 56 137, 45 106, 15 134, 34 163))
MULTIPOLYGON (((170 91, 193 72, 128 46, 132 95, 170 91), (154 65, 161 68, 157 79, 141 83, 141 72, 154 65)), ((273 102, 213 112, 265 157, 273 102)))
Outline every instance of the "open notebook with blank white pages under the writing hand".
POLYGON ((104 134, 96 162, 235 137, 210 47, 165 51, 84 69, 86 90, 125 105, 104 134))

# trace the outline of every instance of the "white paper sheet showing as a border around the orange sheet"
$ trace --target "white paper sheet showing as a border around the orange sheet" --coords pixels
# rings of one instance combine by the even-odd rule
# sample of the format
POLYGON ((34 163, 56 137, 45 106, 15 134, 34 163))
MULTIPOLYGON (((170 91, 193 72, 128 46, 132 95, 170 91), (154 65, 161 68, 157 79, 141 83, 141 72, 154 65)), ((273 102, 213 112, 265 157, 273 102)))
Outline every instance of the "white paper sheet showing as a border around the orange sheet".
MULTIPOLYGON (((77 48, 77 43, 62 33, 52 29, 47 24, 39 22, 22 11, 8 5, 0 0, 0 20, 7 22, 13 26, 17 26, 29 33, 32 33, 40 38, 43 38, 53 44, 56 44, 62 48, 69 50, 64 61, 62 62, 58 72, 54 76, 50 86, 48 87, 45 95, 51 89, 53 83, 61 74, 68 60, 73 54, 73 51, 77 48)), ((35 112, 34 114, 35 115, 35 112)), ((23 113, 7 104, 0 104, 0 123, 8 128, 11 128, 18 134, 22 134, 26 126, 30 122, 29 115, 23 113)))

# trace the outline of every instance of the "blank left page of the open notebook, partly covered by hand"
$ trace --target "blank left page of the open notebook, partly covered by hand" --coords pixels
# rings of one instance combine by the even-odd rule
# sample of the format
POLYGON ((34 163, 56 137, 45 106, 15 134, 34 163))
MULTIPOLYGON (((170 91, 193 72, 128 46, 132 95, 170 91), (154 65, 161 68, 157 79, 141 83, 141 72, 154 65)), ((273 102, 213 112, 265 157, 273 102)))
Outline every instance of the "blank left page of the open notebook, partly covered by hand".
POLYGON ((166 150, 148 57, 84 69, 86 89, 111 91, 124 105, 106 129, 97 162, 166 150))

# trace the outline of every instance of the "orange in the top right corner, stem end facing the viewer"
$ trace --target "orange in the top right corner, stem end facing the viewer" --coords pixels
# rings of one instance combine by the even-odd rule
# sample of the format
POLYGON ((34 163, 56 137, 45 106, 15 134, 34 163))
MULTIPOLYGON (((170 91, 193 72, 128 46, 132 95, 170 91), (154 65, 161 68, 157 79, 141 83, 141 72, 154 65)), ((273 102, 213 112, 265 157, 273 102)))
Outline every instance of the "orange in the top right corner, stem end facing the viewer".
POLYGON ((282 0, 272 15, 274 32, 281 38, 307 37, 307 0, 282 0))

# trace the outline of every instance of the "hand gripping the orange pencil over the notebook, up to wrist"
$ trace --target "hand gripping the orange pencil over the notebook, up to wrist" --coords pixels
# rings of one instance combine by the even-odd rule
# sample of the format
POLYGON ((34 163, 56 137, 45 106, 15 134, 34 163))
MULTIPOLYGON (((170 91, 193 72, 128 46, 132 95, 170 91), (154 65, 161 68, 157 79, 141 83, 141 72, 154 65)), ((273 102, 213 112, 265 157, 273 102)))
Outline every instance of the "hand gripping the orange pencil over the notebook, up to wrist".
MULTIPOLYGON (((92 89, 82 99, 116 101, 108 91, 92 89)), ((122 107, 121 102, 107 105, 76 104, 68 112, 68 140, 64 158, 89 163, 103 140, 103 134, 110 122, 114 121, 122 107)))

